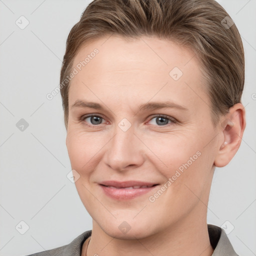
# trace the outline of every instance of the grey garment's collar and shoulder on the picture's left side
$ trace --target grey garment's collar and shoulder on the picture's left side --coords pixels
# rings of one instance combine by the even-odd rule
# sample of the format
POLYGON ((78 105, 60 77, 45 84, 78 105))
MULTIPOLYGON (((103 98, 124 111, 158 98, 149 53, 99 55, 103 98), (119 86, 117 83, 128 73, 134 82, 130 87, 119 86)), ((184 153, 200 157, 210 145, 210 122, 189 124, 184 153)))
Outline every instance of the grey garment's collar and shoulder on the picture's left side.
POLYGON ((80 256, 82 244, 90 235, 91 230, 88 230, 78 235, 66 245, 25 256, 80 256))

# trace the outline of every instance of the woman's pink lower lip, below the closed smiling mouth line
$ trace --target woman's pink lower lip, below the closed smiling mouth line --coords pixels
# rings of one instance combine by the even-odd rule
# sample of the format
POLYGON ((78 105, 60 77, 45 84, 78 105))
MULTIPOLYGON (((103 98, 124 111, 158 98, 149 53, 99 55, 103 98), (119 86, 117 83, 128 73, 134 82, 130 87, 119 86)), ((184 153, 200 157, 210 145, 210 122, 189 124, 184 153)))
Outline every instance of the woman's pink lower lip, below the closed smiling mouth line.
POLYGON ((111 188, 104 185, 100 185, 106 195, 110 196, 113 199, 132 199, 139 195, 146 194, 155 188, 157 185, 144 187, 144 188, 111 188))

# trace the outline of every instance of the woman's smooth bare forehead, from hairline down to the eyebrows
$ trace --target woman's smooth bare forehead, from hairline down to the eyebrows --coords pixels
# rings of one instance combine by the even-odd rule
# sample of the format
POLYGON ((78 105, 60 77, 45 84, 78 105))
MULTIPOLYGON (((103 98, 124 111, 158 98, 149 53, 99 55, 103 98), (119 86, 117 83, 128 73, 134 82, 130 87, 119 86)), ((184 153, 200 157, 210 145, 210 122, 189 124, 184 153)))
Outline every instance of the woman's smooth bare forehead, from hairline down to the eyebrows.
MULTIPOLYGON (((77 74, 70 83, 70 101, 82 93, 93 99, 110 95, 117 103, 120 97, 132 102, 138 95, 144 101, 169 95, 173 101, 183 98, 189 107, 198 100, 196 94, 204 93, 194 52, 157 37, 96 39, 78 51, 72 68, 77 74)), ((205 93, 201 96, 208 100, 205 93)))

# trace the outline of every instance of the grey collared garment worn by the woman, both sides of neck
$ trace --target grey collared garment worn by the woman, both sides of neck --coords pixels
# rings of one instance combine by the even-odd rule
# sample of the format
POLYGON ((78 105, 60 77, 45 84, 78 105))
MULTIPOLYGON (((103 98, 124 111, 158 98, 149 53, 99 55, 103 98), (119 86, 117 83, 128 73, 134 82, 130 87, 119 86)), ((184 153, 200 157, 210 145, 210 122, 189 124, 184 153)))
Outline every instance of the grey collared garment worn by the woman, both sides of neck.
MULTIPOLYGON (((210 244, 214 249, 211 256, 238 256, 222 228, 212 224, 207 224, 207 226, 210 244)), ((67 245, 26 256, 81 256, 82 244, 90 235, 91 230, 88 230, 74 238, 67 245)))

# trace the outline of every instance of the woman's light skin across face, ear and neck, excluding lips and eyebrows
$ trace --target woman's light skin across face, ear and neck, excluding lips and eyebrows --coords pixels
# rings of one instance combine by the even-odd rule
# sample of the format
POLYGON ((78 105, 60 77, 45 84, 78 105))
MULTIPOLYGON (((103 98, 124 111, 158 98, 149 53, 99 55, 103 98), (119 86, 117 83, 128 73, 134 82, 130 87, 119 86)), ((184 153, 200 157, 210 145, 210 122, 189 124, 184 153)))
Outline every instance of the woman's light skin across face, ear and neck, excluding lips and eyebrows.
MULTIPOLYGON (((68 94, 66 146, 80 175, 76 189, 92 217, 86 255, 211 255, 206 222, 211 180, 214 167, 225 166, 240 145, 244 108, 235 104, 214 127, 199 61, 190 49, 156 37, 108 37, 79 50, 73 67, 94 48, 99 52, 72 78, 68 94), (177 80, 169 75, 173 67, 183 73, 177 80), (76 100, 103 109, 72 107, 76 100), (165 101, 181 108, 138 110, 144 103, 165 101), (80 119, 89 114, 102 118, 80 119), (155 115, 170 120, 160 122, 155 115), (123 118, 131 124, 127 131, 118 126, 123 118), (149 201, 198 151, 189 167, 149 201), (117 200, 103 192, 99 183, 104 180, 159 185, 117 200), (123 221, 130 226, 126 233, 118 228, 123 221)), ((85 250, 84 243, 82 256, 85 250)))

